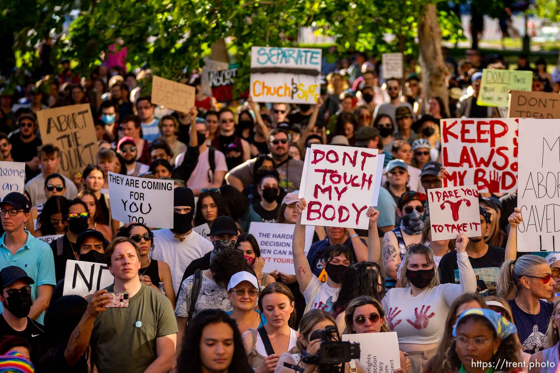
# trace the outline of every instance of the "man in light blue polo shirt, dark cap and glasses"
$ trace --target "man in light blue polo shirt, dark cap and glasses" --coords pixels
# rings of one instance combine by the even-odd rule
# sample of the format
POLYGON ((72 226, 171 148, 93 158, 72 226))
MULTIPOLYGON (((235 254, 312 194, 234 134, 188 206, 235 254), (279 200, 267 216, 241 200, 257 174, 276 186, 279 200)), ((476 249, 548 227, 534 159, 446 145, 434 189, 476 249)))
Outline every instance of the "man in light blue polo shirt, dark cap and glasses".
MULTIPOLYGON (((49 305, 54 277, 53 252, 47 243, 24 229, 29 219, 30 203, 22 193, 11 192, 0 202, 0 219, 6 231, 0 237, 0 268, 18 266, 25 268, 31 284, 33 304, 29 317, 43 323, 44 310, 49 305)), ((0 305, 0 311, 3 306, 0 305)))

